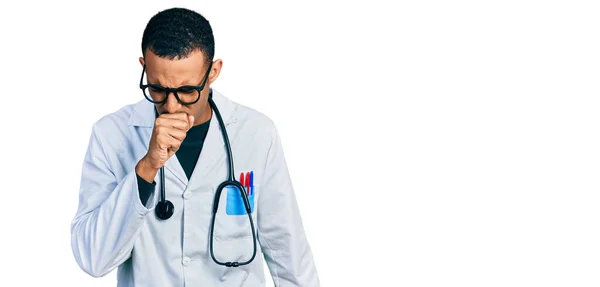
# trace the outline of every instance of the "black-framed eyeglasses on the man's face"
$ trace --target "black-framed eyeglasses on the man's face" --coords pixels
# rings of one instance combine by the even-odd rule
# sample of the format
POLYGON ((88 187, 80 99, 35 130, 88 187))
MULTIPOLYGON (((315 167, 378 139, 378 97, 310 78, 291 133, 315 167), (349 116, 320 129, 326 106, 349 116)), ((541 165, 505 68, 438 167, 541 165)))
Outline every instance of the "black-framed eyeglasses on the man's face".
POLYGON ((146 72, 146 65, 144 65, 142 77, 140 79, 140 89, 142 89, 144 97, 153 104, 162 104, 166 102, 169 94, 173 93, 177 101, 179 101, 182 105, 192 105, 200 99, 200 92, 206 85, 211 68, 212 62, 208 66, 208 70, 206 71, 206 75, 204 76, 204 80, 202 80, 202 85, 200 86, 186 85, 178 88, 165 88, 161 85, 143 84, 144 72, 146 72))

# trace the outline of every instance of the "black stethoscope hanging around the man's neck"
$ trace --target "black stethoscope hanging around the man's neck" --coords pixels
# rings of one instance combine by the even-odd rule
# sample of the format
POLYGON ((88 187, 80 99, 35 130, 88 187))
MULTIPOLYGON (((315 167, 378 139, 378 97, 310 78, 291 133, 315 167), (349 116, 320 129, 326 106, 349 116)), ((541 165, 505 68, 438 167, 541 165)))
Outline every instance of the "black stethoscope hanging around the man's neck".
MULTIPOLYGON (((228 167, 229 167, 229 178, 222 182, 218 187, 215 193, 215 199, 213 203, 212 210, 212 220, 210 223, 210 256, 213 261, 219 265, 224 265, 227 267, 238 267, 241 265, 246 265, 256 256, 256 234, 254 232, 254 221, 252 220, 252 213, 250 208, 250 202, 248 201, 248 196, 246 195, 246 190, 244 186, 235 180, 234 178, 234 170, 233 170, 233 156, 231 154, 231 145, 229 144, 229 137, 227 136, 227 130, 225 129, 225 125, 223 124, 223 118, 221 118, 221 113, 219 113, 219 109, 217 109, 217 105, 212 99, 212 93, 208 97, 208 103, 210 107, 215 111, 217 115, 217 120, 219 121, 219 126, 221 127, 221 134, 223 135, 223 140, 225 141, 225 147, 227 148, 227 158, 228 158, 228 167), (213 231, 215 229, 215 218, 217 217, 217 210, 219 208, 219 199, 221 198, 221 192, 223 188, 226 186, 234 186, 240 191, 240 195, 244 200, 244 206, 246 207, 246 213, 248 214, 248 219, 250 220, 250 227, 252 228, 252 241, 253 241, 253 252, 252 257, 248 261, 245 262, 221 262, 215 258, 215 254, 213 252, 213 231)), ((155 213, 156 216, 162 220, 169 219, 173 215, 175 207, 171 201, 166 199, 165 195, 165 168, 164 166, 160 168, 160 201, 156 204, 155 213)))

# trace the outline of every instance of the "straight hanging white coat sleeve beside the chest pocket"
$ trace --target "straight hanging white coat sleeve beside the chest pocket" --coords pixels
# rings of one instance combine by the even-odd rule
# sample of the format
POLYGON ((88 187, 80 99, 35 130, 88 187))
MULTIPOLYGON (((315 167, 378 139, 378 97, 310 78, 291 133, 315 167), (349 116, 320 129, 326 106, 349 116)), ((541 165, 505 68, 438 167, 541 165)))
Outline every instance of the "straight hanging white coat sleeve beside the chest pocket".
POLYGON ((258 237, 275 286, 320 286, 275 126, 261 183, 258 237))

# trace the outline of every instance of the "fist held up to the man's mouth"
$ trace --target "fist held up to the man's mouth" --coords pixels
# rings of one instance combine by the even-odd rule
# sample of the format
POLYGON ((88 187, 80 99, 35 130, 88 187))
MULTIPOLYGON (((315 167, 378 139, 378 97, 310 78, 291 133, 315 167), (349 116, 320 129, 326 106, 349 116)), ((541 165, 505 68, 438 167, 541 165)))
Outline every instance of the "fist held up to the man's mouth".
POLYGON ((162 114, 154 121, 148 152, 136 166, 136 172, 153 182, 158 170, 173 156, 193 126, 194 117, 186 113, 162 114))

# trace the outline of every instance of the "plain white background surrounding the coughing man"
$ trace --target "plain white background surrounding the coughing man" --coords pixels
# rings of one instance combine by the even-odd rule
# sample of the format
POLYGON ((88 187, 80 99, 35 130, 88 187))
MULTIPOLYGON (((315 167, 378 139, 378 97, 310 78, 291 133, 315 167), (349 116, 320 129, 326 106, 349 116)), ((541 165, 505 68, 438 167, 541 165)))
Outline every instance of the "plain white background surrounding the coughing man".
POLYGON ((2 2, 2 285, 116 286, 71 253, 81 164, 171 6, 276 122, 323 286, 600 285, 594 1, 166 2, 2 2))

